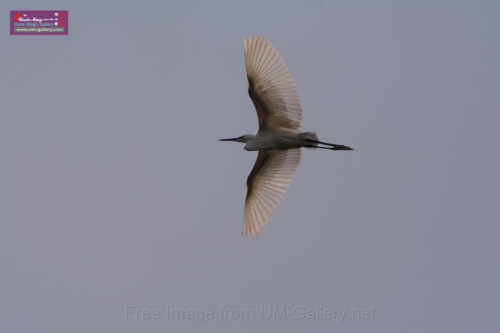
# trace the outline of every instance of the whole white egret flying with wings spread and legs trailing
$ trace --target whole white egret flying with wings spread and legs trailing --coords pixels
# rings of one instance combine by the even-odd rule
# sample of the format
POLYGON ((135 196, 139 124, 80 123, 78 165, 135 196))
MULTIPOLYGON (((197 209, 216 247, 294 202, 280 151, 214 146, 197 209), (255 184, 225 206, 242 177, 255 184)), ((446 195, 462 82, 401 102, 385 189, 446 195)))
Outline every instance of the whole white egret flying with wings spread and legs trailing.
POLYGON ((283 58, 263 37, 243 38, 248 94, 255 106, 258 130, 237 138, 245 150, 258 150, 246 179, 242 235, 260 235, 284 197, 300 162, 300 148, 352 150, 321 142, 315 132, 302 132, 297 89, 283 58), (325 145, 318 146, 318 144, 325 145))

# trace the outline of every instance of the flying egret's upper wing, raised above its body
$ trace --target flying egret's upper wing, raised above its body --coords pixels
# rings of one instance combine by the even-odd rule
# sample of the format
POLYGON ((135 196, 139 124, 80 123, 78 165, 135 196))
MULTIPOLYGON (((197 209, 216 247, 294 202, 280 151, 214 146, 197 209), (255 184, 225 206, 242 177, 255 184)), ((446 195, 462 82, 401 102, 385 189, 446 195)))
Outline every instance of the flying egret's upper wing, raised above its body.
POLYGON ((297 89, 283 58, 263 37, 243 38, 248 94, 257 110, 258 129, 300 131, 297 89))

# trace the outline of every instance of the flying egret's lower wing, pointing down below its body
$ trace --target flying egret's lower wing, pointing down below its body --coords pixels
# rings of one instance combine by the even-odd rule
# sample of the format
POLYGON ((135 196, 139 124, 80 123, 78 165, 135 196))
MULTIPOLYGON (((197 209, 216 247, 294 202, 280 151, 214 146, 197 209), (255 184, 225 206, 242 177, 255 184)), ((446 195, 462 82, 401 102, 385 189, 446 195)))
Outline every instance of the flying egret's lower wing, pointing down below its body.
POLYGON ((255 165, 246 180, 243 232, 259 235, 272 212, 284 197, 300 162, 300 148, 259 150, 255 165))

